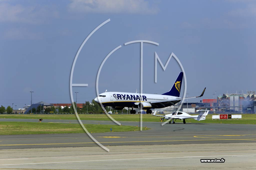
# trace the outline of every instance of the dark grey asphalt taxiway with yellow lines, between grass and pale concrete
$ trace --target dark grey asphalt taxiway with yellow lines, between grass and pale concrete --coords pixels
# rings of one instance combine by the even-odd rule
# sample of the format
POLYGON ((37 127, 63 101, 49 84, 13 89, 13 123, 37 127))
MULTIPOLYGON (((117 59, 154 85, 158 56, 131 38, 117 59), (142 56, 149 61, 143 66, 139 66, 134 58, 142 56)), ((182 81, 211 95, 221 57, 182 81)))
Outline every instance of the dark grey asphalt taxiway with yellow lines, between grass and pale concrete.
MULTIPOLYGON (((0 121, 38 122, 28 119, 1 119, 0 121)), ((76 120, 43 120, 52 123, 78 123, 76 120)), ((113 124, 111 121, 82 121, 87 124, 113 124)), ((136 126, 140 122, 120 122, 136 126)), ((169 145, 196 143, 256 142, 256 125, 175 123, 161 126, 161 122, 143 122, 151 128, 144 131, 93 133, 104 146, 169 145)), ((114 130, 114 128, 112 129, 114 130)), ((0 135, 0 149, 54 148, 97 146, 86 134, 0 135)))

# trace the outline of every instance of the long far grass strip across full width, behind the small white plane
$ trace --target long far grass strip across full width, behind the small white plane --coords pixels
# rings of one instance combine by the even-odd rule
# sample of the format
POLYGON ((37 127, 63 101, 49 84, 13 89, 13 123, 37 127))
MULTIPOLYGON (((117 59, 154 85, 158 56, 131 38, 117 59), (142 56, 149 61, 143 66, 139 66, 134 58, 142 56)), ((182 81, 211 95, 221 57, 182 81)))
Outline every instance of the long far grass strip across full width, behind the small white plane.
MULTIPOLYGON (((194 119, 187 119, 186 122, 189 123, 233 123, 233 124, 255 124, 256 125, 256 114, 242 114, 242 119, 240 120, 212 120, 211 116, 213 114, 208 114, 206 120, 196 121, 194 119)), ((111 115, 117 121, 132 121, 139 122, 140 114, 112 114, 111 115)), ((11 119, 63 119, 63 120, 76 120, 75 114, 0 114, 0 118, 11 118, 11 119)), ((99 121, 110 121, 109 117, 105 114, 79 114, 81 120, 99 120, 99 121)), ((143 114, 142 120, 144 122, 159 122, 160 117, 152 116, 150 114, 143 114)), ((182 122, 181 120, 176 120, 175 122, 182 122)))

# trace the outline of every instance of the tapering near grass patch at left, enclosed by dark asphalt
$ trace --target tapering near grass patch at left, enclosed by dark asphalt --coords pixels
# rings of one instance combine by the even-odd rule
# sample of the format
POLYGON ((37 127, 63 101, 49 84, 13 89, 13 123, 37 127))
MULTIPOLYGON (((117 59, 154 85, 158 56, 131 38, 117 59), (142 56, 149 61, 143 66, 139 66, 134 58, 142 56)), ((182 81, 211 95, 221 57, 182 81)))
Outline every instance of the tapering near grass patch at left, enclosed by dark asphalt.
MULTIPOLYGON (((84 124, 91 133, 110 132, 110 128, 115 132, 140 130, 135 126, 119 125, 93 125, 84 124)), ((147 128, 148 130, 150 128, 147 128)), ((145 130, 145 128, 143 128, 145 130)), ((37 122, 0 122, 0 135, 23 135, 23 134, 54 134, 54 133, 84 133, 80 124, 68 123, 37 123, 37 122)))

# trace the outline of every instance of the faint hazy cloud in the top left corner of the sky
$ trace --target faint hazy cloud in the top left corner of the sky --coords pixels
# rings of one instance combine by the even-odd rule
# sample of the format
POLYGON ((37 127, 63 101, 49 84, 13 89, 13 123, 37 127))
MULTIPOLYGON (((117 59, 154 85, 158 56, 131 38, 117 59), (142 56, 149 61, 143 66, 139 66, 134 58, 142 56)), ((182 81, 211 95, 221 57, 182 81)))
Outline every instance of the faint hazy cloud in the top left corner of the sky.
POLYGON ((0 22, 42 23, 59 16, 55 9, 47 6, 23 6, 0 3, 0 22))

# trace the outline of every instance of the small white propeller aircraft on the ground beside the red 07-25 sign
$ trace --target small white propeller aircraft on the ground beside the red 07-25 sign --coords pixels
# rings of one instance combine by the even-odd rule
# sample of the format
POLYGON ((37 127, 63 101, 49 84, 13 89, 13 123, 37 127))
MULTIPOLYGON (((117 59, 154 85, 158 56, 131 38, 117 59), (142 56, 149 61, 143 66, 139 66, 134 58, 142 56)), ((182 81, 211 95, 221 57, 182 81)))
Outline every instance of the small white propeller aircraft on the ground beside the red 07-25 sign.
POLYGON ((183 123, 185 124, 186 123, 186 119, 195 119, 195 120, 205 120, 205 117, 207 116, 209 110, 197 110, 197 112, 201 111, 201 113, 199 115, 189 115, 185 112, 174 112, 174 113, 171 113, 171 114, 166 114, 166 115, 156 115, 156 110, 154 112, 154 114, 152 114, 153 116, 161 116, 161 117, 164 117, 164 119, 172 119, 172 121, 169 121, 169 123, 175 123, 174 122, 174 119, 180 119, 180 120, 183 120, 183 123))

